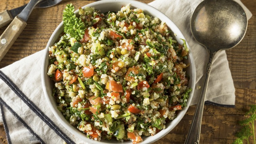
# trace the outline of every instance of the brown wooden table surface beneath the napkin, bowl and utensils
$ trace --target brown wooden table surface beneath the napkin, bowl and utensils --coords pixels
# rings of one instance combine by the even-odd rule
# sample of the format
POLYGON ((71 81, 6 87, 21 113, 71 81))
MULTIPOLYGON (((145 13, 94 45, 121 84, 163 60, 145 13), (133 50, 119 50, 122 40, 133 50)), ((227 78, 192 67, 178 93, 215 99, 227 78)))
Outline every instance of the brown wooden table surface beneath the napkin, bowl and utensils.
MULTIPOLYGON (((1 0, 0 11, 12 9, 28 3, 29 0, 1 0)), ((153 0, 140 0, 149 3, 153 0)), ((12 64, 45 48, 55 28, 62 21, 65 5, 73 3, 75 8, 94 1, 63 0, 50 8, 34 9, 27 26, 13 46, 0 62, 0 68, 12 64)), ((237 122, 243 119, 248 105, 256 104, 256 1, 242 0, 253 16, 248 21, 244 39, 234 48, 227 50, 229 68, 235 85, 235 108, 204 106, 200 143, 232 143, 234 134, 241 128, 237 122)), ((0 28, 0 34, 7 26, 0 28)), ((189 107, 181 122, 169 134, 154 144, 184 143, 195 111, 195 105, 189 107)), ((252 142, 252 139, 250 139, 252 142)), ((0 126, 0 143, 7 143, 3 126, 0 126)))

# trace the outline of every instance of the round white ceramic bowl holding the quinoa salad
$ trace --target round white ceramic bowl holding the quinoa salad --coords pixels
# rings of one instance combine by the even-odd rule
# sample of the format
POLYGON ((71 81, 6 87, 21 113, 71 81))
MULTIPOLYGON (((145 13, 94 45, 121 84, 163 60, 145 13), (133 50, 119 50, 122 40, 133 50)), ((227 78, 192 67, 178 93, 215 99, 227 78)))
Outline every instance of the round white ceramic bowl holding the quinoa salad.
MULTIPOLYGON (((171 31, 177 36, 173 36, 174 39, 176 39, 179 43, 183 43, 180 38, 185 39, 181 31, 178 29, 178 27, 162 12, 159 10, 155 9, 154 7, 147 5, 145 3, 141 3, 138 1, 134 0, 102 0, 102 1, 97 1, 90 3, 85 7, 95 7, 95 9, 101 10, 101 12, 107 12, 107 11, 118 11, 121 9, 122 6, 125 6, 127 4, 130 4, 131 8, 140 8, 142 9, 145 13, 158 17, 161 21, 165 22, 169 28, 171 28, 171 31)), ((75 11, 75 13, 78 13, 78 10, 75 11)), ((59 122, 72 134, 75 136, 79 137, 80 139, 90 143, 90 144, 109 144, 109 143, 120 143, 113 138, 111 141, 94 141, 91 139, 88 139, 85 134, 83 134, 81 131, 79 131, 77 128, 73 127, 69 122, 64 118, 62 113, 57 109, 57 104, 56 100, 52 97, 52 88, 53 88, 53 81, 47 76, 48 72, 48 66, 49 66, 49 52, 48 48, 52 46, 57 39, 59 38, 59 35, 63 32, 63 22, 60 23, 60 25, 55 29, 53 32, 51 38, 49 39, 47 46, 45 48, 45 54, 44 54, 44 60, 42 64, 42 86, 43 86, 43 92, 45 95, 45 99, 47 103, 49 104, 50 109, 54 113, 55 117, 59 120, 59 122)), ((173 34, 172 33, 172 34, 173 34)), ((189 48, 189 46, 188 46, 189 48)), ((185 61, 185 63, 189 63, 190 66, 186 68, 186 74, 190 76, 190 80, 188 83, 188 86, 191 87, 192 89, 195 88, 195 78, 196 78, 196 71, 195 71, 195 64, 194 64, 194 59, 192 57, 191 49, 189 48, 189 56, 188 60, 185 61)), ((194 90, 192 90, 189 93, 189 98, 187 101, 187 105, 190 105, 190 102, 193 97, 194 90)), ((187 111, 188 107, 184 107, 183 110, 179 111, 177 117, 173 119, 171 122, 166 123, 166 129, 161 130, 159 133, 157 133, 154 136, 149 136, 149 137, 142 137, 143 142, 140 144, 148 144, 152 143, 154 141, 159 140, 166 134, 168 134, 183 118, 187 111)), ((125 141, 125 144, 131 144, 131 141, 125 141)))

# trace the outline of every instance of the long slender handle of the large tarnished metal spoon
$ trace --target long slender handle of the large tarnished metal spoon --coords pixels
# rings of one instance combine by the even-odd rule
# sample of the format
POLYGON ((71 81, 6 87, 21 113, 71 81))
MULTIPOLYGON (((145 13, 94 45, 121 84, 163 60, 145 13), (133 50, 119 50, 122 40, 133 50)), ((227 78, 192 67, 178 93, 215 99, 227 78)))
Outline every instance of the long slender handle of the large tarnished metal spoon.
POLYGON ((196 111, 195 111, 190 129, 189 129, 185 144, 198 144, 199 143, 201 121, 202 121, 202 115, 203 115, 204 98, 205 98, 205 93, 206 93, 206 89, 207 89, 207 85, 208 85, 208 81, 209 81, 213 57, 215 55, 215 52, 210 52, 208 49, 207 49, 207 53, 208 53, 208 63, 207 63, 206 70, 205 70, 201 94, 200 94, 200 97, 199 97, 199 100, 198 100, 198 103, 196 106, 196 111))

